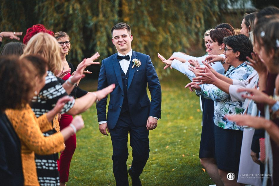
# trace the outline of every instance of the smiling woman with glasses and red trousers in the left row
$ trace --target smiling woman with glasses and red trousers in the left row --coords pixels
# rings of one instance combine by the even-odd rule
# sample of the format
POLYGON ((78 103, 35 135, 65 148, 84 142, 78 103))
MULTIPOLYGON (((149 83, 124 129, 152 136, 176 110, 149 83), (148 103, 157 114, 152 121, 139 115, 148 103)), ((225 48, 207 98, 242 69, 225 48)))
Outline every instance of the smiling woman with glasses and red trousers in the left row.
MULTIPOLYGON (((71 49, 70 44, 70 37, 66 32, 56 32, 54 34, 55 39, 58 42, 58 45, 61 47, 60 55, 61 55, 61 63, 62 63, 62 74, 64 74, 64 77, 62 77, 63 80, 68 80, 69 77, 74 73, 74 66, 72 63, 66 60, 66 55, 68 55, 68 52, 71 49)), ((85 71, 84 71, 85 72, 85 71)), ((88 71, 87 71, 88 73, 88 71)), ((90 72, 89 72, 90 73, 90 72)), ((80 89, 78 86, 74 87, 74 90, 70 94, 71 96, 74 96, 74 98, 79 98, 81 96, 84 96, 88 92, 85 90, 80 89)), ((73 120, 73 116, 70 114, 62 114, 61 118, 59 120, 59 126, 60 130, 70 125, 70 123, 73 120)), ((61 152, 60 158, 59 158, 59 174, 60 174, 60 185, 65 185, 65 182, 68 182, 69 179, 69 171, 70 171, 70 163, 72 160, 72 157, 74 155, 74 151, 76 149, 76 143, 77 138, 76 135, 71 136, 68 140, 65 141, 65 149, 61 152)))

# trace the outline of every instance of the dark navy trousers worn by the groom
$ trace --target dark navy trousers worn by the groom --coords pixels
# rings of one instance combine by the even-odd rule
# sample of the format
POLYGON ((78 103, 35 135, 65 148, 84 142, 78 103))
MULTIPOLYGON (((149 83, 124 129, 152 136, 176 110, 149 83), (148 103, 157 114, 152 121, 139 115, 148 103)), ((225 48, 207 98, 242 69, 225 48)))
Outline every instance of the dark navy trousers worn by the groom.
POLYGON ((139 176, 149 158, 149 131, 147 131, 145 124, 140 127, 135 126, 129 111, 126 111, 120 114, 115 128, 109 129, 113 151, 113 174, 117 186, 129 185, 127 172, 128 133, 130 133, 130 146, 133 149, 132 174, 139 176))

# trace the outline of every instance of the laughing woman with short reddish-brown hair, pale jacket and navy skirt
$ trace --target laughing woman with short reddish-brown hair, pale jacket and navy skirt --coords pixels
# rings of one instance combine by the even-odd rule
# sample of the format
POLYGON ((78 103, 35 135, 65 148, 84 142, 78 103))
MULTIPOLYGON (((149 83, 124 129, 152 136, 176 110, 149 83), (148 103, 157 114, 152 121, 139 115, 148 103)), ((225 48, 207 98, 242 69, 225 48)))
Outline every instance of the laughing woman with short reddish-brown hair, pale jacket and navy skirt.
MULTIPOLYGON (((226 28, 218 28, 215 30, 211 30, 209 42, 207 43, 207 47, 210 49, 208 55, 210 56, 215 54, 224 57, 225 55, 223 54, 223 52, 224 52, 225 45, 223 44, 223 38, 231 35, 232 33, 226 28)), ((185 66, 184 69, 187 68, 188 71, 191 71, 190 69, 188 69, 189 68, 188 66, 186 67, 186 63, 179 62, 178 60, 177 61, 165 60, 163 56, 161 56, 160 54, 158 54, 158 57, 162 60, 162 62, 166 63, 167 65, 173 66, 175 69, 177 69, 177 66, 174 65, 174 63, 178 63, 180 64, 180 66, 184 65, 185 66)), ((197 62, 197 64, 199 63, 197 62)), ((222 66, 221 63, 219 63, 219 65, 222 66)), ((187 72, 187 71, 183 71, 184 69, 180 67, 177 70, 179 70, 182 73, 187 72)), ((191 73, 194 74, 194 72, 192 71, 191 73)), ((192 76, 196 77, 195 74, 192 76)), ((216 185, 223 185, 223 182, 218 174, 218 167, 215 160, 215 141, 214 141, 214 122, 213 122, 214 101, 205 98, 202 98, 202 101, 204 103, 203 112, 202 112, 203 125, 202 125, 199 158, 202 166, 205 167, 209 176, 213 179, 216 185)))

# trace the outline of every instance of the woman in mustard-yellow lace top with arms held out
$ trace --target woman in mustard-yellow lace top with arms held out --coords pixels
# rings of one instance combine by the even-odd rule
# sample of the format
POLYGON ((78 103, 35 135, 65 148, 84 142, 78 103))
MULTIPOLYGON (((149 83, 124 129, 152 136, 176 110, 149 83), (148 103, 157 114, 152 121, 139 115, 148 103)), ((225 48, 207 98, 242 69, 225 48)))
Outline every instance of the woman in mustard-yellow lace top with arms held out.
MULTIPOLYGON (((53 117, 61 111, 65 102, 70 101, 71 98, 65 96, 59 99, 52 110, 37 118, 28 102, 45 85, 47 71, 45 59, 40 56, 28 55, 20 60, 11 58, 9 65, 6 64, 0 64, 0 69, 3 69, 2 74, 0 74, 0 81, 7 82, 4 83, 2 88, 7 91, 14 89, 11 92, 16 93, 20 84, 26 84, 26 88, 21 90, 23 92, 20 92, 27 95, 26 98, 15 103, 17 109, 7 109, 5 111, 20 139, 24 185, 39 185, 34 152, 39 155, 48 155, 64 150, 64 141, 84 127, 83 120, 80 116, 76 116, 72 124, 61 132, 44 136, 42 132, 52 130, 51 121, 53 117), (12 74, 7 76, 10 72, 14 73, 16 68, 19 73, 24 73, 24 80, 18 80, 12 74)), ((41 166, 52 168, 52 164, 47 162, 41 162, 41 166)))

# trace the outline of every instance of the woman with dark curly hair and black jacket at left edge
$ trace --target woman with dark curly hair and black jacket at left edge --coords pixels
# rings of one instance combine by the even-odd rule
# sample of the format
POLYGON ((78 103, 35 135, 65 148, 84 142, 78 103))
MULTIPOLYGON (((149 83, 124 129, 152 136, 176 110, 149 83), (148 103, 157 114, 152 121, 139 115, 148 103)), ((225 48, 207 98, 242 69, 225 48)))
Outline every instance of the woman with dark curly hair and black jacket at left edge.
POLYGON ((1 185, 18 186, 24 183, 20 156, 21 145, 4 111, 15 109, 18 106, 17 103, 22 100, 28 101, 28 96, 23 91, 28 82, 18 81, 25 80, 28 74, 23 73, 22 69, 14 66, 13 63, 9 63, 9 59, 0 58, 0 180, 1 185), (5 86, 10 80, 15 81, 16 87, 7 89, 5 86))

